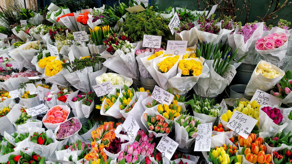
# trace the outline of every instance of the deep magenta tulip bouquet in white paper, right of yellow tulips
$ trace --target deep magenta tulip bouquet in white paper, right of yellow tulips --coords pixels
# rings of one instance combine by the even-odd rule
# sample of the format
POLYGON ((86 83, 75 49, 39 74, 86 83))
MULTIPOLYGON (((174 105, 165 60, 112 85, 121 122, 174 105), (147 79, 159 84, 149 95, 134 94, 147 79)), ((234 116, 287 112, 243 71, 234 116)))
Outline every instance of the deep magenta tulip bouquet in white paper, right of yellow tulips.
POLYGON ((288 125, 280 112, 278 105, 261 106, 259 111, 260 134, 262 136, 273 136, 285 129, 288 125))

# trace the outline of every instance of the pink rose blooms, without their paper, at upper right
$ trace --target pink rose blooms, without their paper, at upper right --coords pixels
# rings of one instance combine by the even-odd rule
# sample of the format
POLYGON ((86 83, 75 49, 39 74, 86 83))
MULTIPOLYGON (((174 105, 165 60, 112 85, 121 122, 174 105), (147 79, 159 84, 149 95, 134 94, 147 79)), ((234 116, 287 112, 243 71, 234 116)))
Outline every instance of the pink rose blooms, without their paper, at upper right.
POLYGON ((257 50, 269 50, 281 47, 288 40, 285 33, 272 33, 256 42, 257 50))

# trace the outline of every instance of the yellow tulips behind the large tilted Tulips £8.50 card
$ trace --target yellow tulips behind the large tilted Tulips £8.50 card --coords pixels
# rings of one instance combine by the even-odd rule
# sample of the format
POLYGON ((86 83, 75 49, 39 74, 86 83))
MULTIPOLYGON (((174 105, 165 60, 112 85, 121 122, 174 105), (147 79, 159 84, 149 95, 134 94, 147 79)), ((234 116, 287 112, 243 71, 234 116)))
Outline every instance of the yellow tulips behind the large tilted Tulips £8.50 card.
MULTIPOLYGON (((234 109, 241 113, 244 113, 256 120, 259 120, 259 109, 260 104, 257 104, 257 101, 240 101, 238 106, 234 109)), ((228 122, 234 112, 234 110, 231 112, 231 110, 227 110, 226 114, 222 115, 222 120, 228 122)), ((259 121, 257 122, 257 126, 259 124, 259 121)))

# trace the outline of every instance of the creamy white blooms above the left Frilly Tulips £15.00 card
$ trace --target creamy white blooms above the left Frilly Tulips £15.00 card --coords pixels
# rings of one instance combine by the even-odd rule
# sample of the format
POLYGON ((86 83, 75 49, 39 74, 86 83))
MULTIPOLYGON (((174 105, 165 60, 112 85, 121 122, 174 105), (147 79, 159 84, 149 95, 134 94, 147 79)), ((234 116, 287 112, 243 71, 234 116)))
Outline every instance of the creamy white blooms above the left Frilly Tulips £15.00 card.
POLYGON ((127 87, 130 87, 133 83, 133 80, 120 75, 120 74, 115 74, 115 73, 103 73, 100 76, 97 76, 95 78, 96 84, 104 83, 106 81, 110 81, 114 87, 120 87, 124 89, 124 85, 127 87))

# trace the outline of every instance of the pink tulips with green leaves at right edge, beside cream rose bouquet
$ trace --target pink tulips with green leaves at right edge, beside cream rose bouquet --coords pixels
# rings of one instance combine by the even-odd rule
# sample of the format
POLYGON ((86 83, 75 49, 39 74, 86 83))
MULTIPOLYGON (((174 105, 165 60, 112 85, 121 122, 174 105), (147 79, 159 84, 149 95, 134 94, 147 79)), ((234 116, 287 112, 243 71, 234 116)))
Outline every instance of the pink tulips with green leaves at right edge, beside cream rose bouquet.
POLYGON ((273 91, 274 96, 284 99, 287 95, 291 93, 292 90, 292 72, 288 70, 285 72, 283 78, 279 81, 279 83, 274 86, 273 91))

